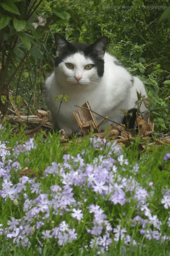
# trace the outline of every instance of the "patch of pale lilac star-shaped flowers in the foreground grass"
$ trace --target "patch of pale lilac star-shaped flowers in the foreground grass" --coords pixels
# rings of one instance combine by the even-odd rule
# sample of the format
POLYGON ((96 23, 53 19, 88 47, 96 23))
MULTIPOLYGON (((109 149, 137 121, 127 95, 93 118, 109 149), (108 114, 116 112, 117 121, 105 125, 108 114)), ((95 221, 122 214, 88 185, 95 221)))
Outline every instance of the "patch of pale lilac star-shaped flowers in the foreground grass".
MULTIPOLYGON (((63 163, 52 162, 44 171, 45 180, 53 177, 53 184, 46 191, 36 178, 22 176, 17 183, 12 181, 12 170, 17 172, 21 166, 18 161, 10 159, 6 143, 0 143, 0 197, 4 203, 10 199, 16 207, 19 200, 23 201, 22 217, 11 217, 7 227, 0 224, 0 236, 5 236, 7 243, 12 241, 18 246, 30 247, 30 238, 37 232, 37 250, 41 254, 50 241, 64 246, 77 240, 79 225, 89 219, 83 231, 90 237, 90 242, 84 244, 85 250, 96 248, 97 254, 101 254, 109 250, 113 241, 116 244, 119 240, 125 246, 129 246, 130 242, 135 246, 138 241, 131 237, 121 220, 114 222, 107 216, 109 211, 114 211, 115 205, 124 209, 130 202, 134 202, 138 213, 127 221, 132 228, 140 225, 140 234, 149 241, 170 240, 169 236, 161 233, 162 222, 149 207, 149 200, 154 194, 153 182, 148 184, 148 188, 140 186, 136 178, 140 166, 137 163, 130 166, 116 142, 92 138, 90 146, 98 148, 99 154, 90 163, 84 161, 85 151, 76 157, 65 154, 63 163), (126 168, 130 169, 130 175, 126 174, 126 168), (89 193, 93 202, 88 199, 89 193), (103 208, 100 201, 105 202, 107 207, 103 208)), ((36 145, 30 139, 14 148, 13 157, 16 158, 21 152, 27 156, 33 149, 36 145)), ((161 203, 165 209, 170 208, 170 190, 164 192, 161 203)), ((123 216, 125 218, 125 213, 123 216)), ((170 215, 167 224, 170 227, 170 215)))

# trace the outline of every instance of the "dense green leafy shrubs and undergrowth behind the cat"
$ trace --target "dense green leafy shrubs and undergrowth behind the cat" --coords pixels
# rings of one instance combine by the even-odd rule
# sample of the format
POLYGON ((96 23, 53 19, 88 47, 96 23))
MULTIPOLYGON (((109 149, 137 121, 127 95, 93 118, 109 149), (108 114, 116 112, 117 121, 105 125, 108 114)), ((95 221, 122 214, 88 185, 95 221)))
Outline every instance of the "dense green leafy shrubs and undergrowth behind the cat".
POLYGON ((145 84, 153 101, 150 108, 155 130, 168 132, 170 19, 159 21, 168 5, 166 0, 2 0, 0 78, 10 53, 4 84, 12 92, 12 98, 1 98, 3 103, 14 100, 23 108, 21 99, 26 99, 32 108, 46 109, 43 86, 53 70, 55 32, 70 42, 92 43, 106 35, 107 51, 145 84), (17 9, 10 9, 11 3, 17 9))

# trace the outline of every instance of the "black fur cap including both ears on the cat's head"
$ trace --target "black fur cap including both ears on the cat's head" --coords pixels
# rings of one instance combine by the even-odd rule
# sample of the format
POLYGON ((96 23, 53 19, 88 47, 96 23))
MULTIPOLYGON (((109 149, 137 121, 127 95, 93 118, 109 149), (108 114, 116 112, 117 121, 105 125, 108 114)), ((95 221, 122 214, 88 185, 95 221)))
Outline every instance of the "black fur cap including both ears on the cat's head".
POLYGON ((98 76, 103 76, 104 73, 104 53, 107 46, 107 37, 99 38, 93 44, 85 43, 69 43, 61 34, 54 35, 56 45, 55 67, 69 55, 82 53, 85 57, 91 58, 94 61, 94 66, 97 68, 98 76))

